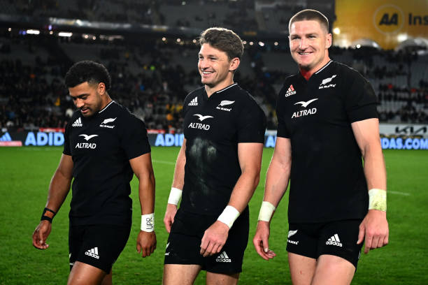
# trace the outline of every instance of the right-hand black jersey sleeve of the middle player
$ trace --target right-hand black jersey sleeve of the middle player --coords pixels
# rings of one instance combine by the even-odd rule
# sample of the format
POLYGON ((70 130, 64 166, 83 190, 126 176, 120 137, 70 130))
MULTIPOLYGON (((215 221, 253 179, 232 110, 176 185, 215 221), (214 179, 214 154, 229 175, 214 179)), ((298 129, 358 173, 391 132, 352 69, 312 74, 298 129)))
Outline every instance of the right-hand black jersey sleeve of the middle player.
POLYGON ((238 116, 238 142, 264 143, 266 116, 257 102, 250 98, 238 116))

